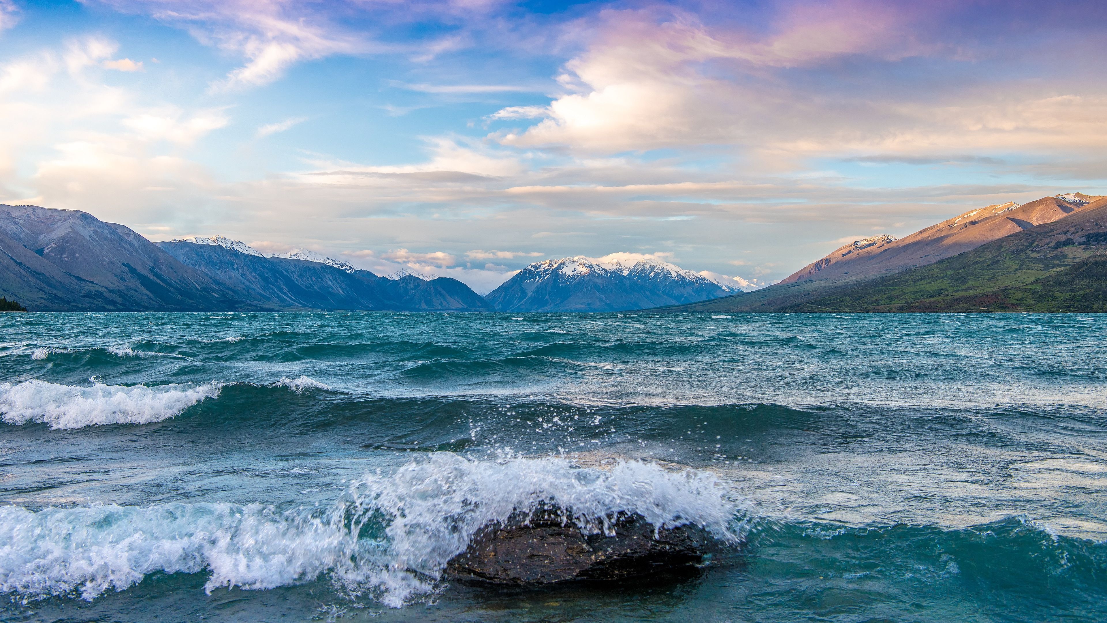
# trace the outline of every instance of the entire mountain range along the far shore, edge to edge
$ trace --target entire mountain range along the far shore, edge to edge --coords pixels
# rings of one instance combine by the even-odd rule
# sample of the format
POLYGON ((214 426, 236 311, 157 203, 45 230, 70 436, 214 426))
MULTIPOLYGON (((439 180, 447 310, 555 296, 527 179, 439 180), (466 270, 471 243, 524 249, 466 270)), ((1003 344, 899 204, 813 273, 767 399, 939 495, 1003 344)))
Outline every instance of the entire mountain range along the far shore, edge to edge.
POLYGON ((1096 312, 1105 284, 1107 197, 1082 193, 856 239, 753 292, 623 253, 536 262, 484 297, 451 277, 381 277, 310 249, 154 244, 84 212, 0 205, 0 296, 31 310, 1096 312))

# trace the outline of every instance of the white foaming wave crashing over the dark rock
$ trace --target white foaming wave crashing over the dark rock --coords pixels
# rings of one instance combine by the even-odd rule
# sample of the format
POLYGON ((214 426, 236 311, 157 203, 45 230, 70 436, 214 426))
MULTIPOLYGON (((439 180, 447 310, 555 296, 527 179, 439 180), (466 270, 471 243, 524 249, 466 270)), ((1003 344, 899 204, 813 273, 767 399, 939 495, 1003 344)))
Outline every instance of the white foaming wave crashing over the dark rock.
POLYGON ((610 533, 619 512, 656 528, 696 524, 741 541, 742 502, 714 474, 620 462, 610 470, 561 459, 469 460, 438 452, 394 473, 371 473, 322 511, 232 503, 0 508, 0 591, 23 601, 93 600, 146 575, 209 573, 205 590, 272 589, 329 576, 351 595, 399 607, 434 592, 446 563, 482 527, 544 502, 566 521, 610 533))

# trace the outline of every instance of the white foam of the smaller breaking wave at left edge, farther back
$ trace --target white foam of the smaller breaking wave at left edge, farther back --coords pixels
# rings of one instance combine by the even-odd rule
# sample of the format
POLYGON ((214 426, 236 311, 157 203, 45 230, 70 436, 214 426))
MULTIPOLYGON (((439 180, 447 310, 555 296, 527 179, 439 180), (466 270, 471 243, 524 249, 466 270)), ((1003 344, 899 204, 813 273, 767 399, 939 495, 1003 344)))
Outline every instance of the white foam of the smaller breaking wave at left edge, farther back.
POLYGON ((108 423, 149 423, 172 418, 205 398, 217 398, 223 384, 55 385, 37 379, 0 384, 0 413, 10 425, 44 422, 50 428, 108 423))

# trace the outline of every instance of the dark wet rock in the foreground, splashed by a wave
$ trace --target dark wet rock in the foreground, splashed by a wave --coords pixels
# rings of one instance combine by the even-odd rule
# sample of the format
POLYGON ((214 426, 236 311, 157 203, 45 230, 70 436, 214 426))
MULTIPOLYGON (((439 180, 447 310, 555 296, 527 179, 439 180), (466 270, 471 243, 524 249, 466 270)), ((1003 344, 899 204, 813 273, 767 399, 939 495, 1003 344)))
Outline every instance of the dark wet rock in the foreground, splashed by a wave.
POLYGON ((516 513, 474 535, 446 565, 446 576, 526 585, 672 573, 695 569, 711 541, 692 525, 655 533, 639 514, 618 517, 613 528, 614 535, 586 534, 557 509, 516 513))

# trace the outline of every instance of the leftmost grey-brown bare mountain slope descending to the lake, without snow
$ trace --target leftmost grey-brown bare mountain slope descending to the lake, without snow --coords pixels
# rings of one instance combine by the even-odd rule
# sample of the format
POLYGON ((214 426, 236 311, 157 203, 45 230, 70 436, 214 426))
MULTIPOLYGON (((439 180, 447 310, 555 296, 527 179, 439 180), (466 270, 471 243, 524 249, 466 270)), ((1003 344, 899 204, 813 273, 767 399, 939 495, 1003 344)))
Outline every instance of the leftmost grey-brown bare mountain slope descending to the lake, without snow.
POLYGON ((0 205, 0 294, 33 312, 249 307, 123 225, 0 205))

